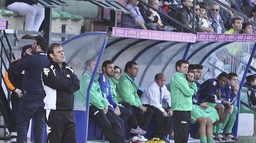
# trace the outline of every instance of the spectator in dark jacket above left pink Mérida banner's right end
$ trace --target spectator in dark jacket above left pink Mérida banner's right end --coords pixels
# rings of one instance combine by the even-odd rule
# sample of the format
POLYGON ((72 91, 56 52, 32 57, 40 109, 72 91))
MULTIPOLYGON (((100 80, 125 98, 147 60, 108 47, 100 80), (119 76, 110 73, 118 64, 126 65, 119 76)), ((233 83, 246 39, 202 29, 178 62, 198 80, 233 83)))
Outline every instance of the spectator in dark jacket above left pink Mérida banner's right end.
MULTIPOLYGON (((192 21, 194 20, 191 12, 191 8, 193 7, 193 0, 181 0, 181 4, 183 5, 183 8, 177 14, 176 19, 179 20, 179 22, 183 23, 184 26, 191 29, 192 21)), ((191 32, 177 24, 176 24, 176 28, 178 31, 181 31, 181 32, 191 32)))

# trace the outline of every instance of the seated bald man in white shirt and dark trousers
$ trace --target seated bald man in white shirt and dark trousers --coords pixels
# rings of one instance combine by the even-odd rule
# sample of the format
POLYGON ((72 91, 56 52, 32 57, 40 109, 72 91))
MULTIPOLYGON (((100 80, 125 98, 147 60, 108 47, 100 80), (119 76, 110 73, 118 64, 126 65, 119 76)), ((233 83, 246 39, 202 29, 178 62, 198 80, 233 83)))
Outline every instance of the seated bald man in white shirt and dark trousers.
POLYGON ((165 75, 163 73, 157 73, 154 77, 154 82, 146 87, 140 100, 145 107, 151 108, 153 111, 153 138, 160 138, 165 140, 166 143, 170 143, 165 135, 170 135, 172 132, 171 94, 164 85, 165 81, 165 75), (162 100, 167 101, 168 109, 162 107, 162 100))

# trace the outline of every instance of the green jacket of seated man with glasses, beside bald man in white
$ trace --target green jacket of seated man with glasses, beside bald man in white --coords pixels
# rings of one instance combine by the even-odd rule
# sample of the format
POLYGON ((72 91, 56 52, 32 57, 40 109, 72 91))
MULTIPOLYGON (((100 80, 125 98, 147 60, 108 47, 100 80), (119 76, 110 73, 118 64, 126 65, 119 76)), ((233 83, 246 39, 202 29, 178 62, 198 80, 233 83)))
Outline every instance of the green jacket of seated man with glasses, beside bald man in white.
POLYGON ((138 85, 127 73, 124 73, 118 82, 118 94, 117 101, 126 102, 136 107, 142 106, 137 94, 138 85))

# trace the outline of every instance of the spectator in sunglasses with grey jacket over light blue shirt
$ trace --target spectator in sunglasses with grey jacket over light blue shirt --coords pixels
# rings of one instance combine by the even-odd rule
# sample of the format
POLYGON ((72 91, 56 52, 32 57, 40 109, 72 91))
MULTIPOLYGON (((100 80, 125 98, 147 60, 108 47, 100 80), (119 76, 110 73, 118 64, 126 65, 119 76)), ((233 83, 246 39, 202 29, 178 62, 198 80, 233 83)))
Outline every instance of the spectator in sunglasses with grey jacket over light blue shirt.
POLYGON ((213 28, 214 33, 221 34, 225 31, 223 21, 219 16, 219 4, 211 4, 210 12, 208 12, 208 18, 211 19, 211 27, 213 28))

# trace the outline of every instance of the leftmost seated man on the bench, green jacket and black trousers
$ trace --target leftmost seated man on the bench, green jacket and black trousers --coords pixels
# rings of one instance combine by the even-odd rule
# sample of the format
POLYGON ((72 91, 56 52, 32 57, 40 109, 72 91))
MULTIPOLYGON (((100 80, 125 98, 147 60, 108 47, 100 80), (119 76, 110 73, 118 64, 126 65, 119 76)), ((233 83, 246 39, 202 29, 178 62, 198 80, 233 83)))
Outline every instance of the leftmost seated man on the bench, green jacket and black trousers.
MULTIPOLYGON (((85 62, 85 72, 80 79, 80 89, 76 93, 76 98, 80 99, 85 104, 87 88, 95 68, 96 61, 87 60, 85 62)), ((125 138, 122 135, 122 129, 119 120, 114 116, 114 112, 108 111, 108 102, 102 97, 98 76, 93 80, 93 85, 90 89, 90 106, 89 117, 93 119, 95 124, 104 132, 106 139, 110 143, 125 143, 125 138)))

